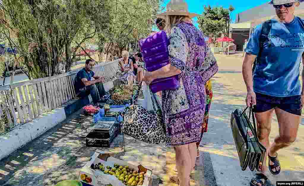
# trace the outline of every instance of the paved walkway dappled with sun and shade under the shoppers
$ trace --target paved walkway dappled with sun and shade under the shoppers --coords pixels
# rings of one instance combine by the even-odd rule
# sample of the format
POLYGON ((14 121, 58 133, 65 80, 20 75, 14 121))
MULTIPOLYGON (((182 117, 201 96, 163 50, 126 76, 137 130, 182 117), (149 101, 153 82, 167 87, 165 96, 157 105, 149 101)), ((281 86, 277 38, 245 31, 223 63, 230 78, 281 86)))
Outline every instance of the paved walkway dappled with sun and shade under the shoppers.
MULTIPOLYGON (((219 73, 212 78, 212 100, 209 130, 201 141, 201 156, 197 159, 191 185, 242 186, 249 185, 254 172, 241 171, 230 129, 230 114, 236 108, 244 108, 246 87, 241 73, 242 59, 237 55, 216 55, 219 73)), ((96 148, 85 147, 87 129, 92 117, 85 117, 81 110, 60 123, 46 134, 0 162, 0 185, 51 186, 67 179, 77 179, 78 172, 89 161, 96 148)), ((294 145, 279 152, 282 171, 271 183, 304 180, 304 125, 294 145)), ((271 140, 278 133, 275 117, 271 140)), ((115 157, 133 164, 142 164, 153 171, 150 186, 177 186, 170 183, 175 154, 170 147, 142 143, 126 137, 126 151, 120 148, 103 149, 115 153, 115 157)))

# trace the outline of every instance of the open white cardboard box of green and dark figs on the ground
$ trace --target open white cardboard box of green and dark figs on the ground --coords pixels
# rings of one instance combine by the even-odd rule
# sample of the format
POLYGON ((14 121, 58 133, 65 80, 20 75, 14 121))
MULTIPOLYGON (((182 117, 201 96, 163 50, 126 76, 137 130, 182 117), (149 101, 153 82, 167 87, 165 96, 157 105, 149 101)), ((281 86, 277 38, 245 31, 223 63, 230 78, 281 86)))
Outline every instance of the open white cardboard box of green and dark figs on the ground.
POLYGON ((83 186, 148 186, 151 176, 152 171, 142 165, 129 164, 96 150, 81 168, 78 180, 83 186))

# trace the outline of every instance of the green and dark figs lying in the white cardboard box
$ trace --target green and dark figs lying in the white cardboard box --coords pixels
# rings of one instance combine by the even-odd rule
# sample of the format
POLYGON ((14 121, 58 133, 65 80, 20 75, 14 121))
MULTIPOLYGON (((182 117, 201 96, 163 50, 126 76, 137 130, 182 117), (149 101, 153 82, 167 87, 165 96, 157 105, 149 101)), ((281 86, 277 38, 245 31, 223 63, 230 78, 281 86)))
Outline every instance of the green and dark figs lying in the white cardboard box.
MULTIPOLYGON (((115 176, 119 181, 123 182, 126 186, 136 186, 143 185, 145 172, 137 172, 134 171, 133 168, 129 168, 129 166, 121 166, 119 164, 114 164, 113 167, 104 166, 101 163, 91 164, 91 168, 94 170, 102 171, 104 174, 110 174, 115 176)), ((81 175, 82 180, 91 180, 92 178, 88 178, 86 175, 81 175)), ((86 181, 87 182, 87 181, 86 181)), ((89 183, 89 182, 88 182, 89 183)))

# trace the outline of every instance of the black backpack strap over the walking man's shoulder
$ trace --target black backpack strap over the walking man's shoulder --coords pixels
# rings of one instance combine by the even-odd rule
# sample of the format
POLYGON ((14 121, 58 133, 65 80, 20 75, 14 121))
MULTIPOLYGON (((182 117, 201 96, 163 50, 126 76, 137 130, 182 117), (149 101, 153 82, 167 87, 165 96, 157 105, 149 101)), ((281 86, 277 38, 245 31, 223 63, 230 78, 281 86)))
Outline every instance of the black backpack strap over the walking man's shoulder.
POLYGON ((254 73, 257 62, 258 62, 259 58, 261 57, 261 53, 262 53, 262 50, 264 48, 264 43, 268 40, 268 35, 269 35, 269 32, 270 32, 270 29, 271 29, 271 19, 263 22, 263 24, 262 24, 262 32, 261 32, 261 35, 260 35, 260 38, 259 38, 260 50, 259 50, 259 53, 258 53, 257 57, 255 58, 254 63, 253 63, 252 74, 254 73))

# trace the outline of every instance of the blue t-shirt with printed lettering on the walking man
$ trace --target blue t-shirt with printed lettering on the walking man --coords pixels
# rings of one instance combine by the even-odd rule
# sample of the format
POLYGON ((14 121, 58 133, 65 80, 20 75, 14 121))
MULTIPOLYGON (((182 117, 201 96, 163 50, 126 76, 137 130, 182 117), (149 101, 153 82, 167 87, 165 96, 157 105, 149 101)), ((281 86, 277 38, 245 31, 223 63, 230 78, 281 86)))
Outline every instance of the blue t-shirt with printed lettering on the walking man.
MULTIPOLYGON (((253 74, 253 88, 257 93, 287 97, 301 94, 299 67, 304 51, 303 20, 290 23, 271 19, 269 42, 264 43, 261 57, 253 74)), ((262 25, 250 36, 245 52, 258 55, 262 25)))

